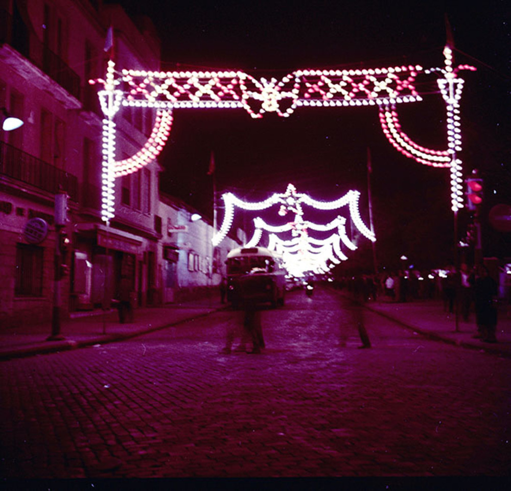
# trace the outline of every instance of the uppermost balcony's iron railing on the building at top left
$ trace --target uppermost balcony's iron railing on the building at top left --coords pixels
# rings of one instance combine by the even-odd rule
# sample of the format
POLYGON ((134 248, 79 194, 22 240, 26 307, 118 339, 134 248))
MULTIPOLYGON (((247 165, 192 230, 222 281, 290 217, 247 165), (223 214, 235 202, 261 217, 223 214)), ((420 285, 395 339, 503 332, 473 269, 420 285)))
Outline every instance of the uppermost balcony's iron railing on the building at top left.
POLYGON ((80 77, 65 61, 42 43, 21 19, 0 9, 0 44, 9 44, 19 54, 80 100, 80 77))

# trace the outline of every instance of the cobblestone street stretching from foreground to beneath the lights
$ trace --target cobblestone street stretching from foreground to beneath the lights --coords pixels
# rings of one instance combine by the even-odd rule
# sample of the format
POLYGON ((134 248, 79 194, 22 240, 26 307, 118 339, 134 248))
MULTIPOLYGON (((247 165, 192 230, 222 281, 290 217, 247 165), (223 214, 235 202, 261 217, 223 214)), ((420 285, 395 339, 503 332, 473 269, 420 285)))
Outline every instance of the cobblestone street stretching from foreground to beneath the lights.
POLYGON ((0 362, 6 478, 509 476, 511 360, 425 339, 336 292, 0 362), (363 317, 370 349, 359 349, 363 317))

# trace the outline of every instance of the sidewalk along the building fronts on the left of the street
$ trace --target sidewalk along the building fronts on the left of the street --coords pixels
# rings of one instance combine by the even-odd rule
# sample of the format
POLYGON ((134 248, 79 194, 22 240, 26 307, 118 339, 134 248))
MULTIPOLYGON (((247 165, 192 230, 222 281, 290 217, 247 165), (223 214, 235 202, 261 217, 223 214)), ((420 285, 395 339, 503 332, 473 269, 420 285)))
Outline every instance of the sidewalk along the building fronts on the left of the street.
POLYGON ((51 322, 19 326, 0 332, 0 360, 54 353, 67 349, 121 341, 143 333, 206 316, 227 307, 217 298, 204 298, 161 307, 134 309, 134 321, 121 324, 117 310, 106 313, 75 313, 63 319, 60 334, 64 339, 48 341, 51 322))

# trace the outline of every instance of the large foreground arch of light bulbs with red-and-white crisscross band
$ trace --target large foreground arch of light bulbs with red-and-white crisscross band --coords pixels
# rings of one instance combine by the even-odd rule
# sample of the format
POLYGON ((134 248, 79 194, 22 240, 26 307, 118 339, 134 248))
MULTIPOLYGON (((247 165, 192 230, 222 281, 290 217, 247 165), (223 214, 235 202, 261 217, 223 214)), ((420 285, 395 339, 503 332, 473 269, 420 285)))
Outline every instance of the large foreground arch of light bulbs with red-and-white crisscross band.
MULTIPOLYGON (((115 70, 110 60, 105 80, 90 80, 104 86, 99 91, 103 120, 103 220, 114 216, 114 179, 136 172, 157 158, 172 125, 174 108, 240 108, 252 118, 267 112, 289 117, 298 107, 377 106, 380 124, 389 142, 403 155, 425 165, 450 168, 451 204, 456 212, 462 204, 462 162, 459 100, 462 70, 453 67, 449 46, 444 49, 444 66, 425 69, 421 65, 396 65, 370 69, 305 69, 281 80, 256 79, 235 70, 143 71, 115 70), (416 79, 438 72, 440 92, 447 106, 447 150, 432 150, 413 142, 401 129, 398 104, 422 101, 416 79), (130 158, 115 160, 116 127, 113 118, 121 107, 155 108, 154 128, 146 145, 130 158)), ((214 239, 215 240, 215 239, 214 239)))

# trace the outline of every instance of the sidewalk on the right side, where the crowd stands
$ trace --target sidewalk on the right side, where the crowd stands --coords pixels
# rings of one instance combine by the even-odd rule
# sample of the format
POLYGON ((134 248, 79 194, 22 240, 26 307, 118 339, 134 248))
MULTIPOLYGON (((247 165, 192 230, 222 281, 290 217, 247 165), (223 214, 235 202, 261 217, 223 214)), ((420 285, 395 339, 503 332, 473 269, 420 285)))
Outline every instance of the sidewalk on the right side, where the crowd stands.
POLYGON ((458 316, 456 330, 456 316, 444 311, 442 300, 392 302, 384 297, 381 301, 368 301, 364 307, 430 339, 511 358, 511 312, 506 306, 499 305, 497 343, 485 343, 472 337, 477 331, 473 312, 469 322, 458 316))

